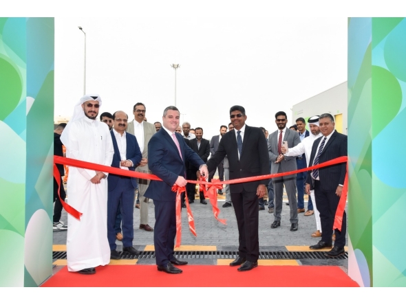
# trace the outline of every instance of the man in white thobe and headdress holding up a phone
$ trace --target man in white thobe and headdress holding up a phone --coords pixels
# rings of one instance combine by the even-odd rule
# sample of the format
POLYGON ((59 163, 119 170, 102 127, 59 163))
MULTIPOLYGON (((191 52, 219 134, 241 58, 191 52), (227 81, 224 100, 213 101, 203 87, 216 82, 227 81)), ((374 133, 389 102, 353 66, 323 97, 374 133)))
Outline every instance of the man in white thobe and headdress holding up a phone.
MULTIPOLYGON (((297 146, 293 148, 288 148, 288 150, 286 150, 284 146, 282 146, 281 148, 282 153, 284 153, 284 155, 286 155, 287 157, 296 157, 303 155, 304 153, 306 156, 307 167, 309 167, 309 160, 310 154, 312 153, 313 142, 317 138, 321 137, 319 128, 319 115, 314 115, 314 117, 310 117, 310 119, 308 119, 308 124, 311 131, 308 137, 305 137, 301 143, 297 144, 297 146)), ((312 233, 312 237, 320 237, 321 236, 320 213, 319 210, 317 210, 316 198, 314 197, 314 190, 310 191, 310 197, 314 205, 314 216, 316 218, 316 227, 317 227, 317 231, 314 231, 314 233, 312 233)))

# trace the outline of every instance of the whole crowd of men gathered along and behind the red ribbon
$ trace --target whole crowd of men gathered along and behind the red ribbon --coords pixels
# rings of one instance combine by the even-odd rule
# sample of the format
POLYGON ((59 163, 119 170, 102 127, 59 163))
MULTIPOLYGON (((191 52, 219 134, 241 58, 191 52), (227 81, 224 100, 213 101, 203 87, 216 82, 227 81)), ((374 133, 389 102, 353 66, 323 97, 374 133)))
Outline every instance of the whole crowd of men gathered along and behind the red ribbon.
MULTIPOLYGON (((284 221, 281 219, 284 190, 290 209, 290 231, 299 229, 300 213, 314 214, 316 231, 312 237, 321 240, 310 248, 332 248, 326 255, 333 257, 344 252, 345 212, 341 230, 333 231, 333 223, 343 190, 345 163, 291 173, 347 155, 347 136, 334 130, 332 115, 315 115, 307 125, 299 117, 295 126, 287 128, 288 117, 279 111, 275 114, 277 131, 268 134, 263 127, 246 125, 245 109, 236 105, 230 109, 231 122, 220 126, 219 134, 209 141, 204 139, 202 127, 191 128, 189 122, 180 126, 180 112, 174 106, 164 109, 162 122, 151 124, 145 116, 146 106, 140 102, 133 106, 131 122, 124 111, 104 112, 99 117, 101 105, 99 95, 81 98, 72 120, 54 131, 55 155, 63 155, 64 145, 66 156, 72 159, 155 174, 162 181, 71 167, 67 196, 69 204, 83 216, 77 219, 68 214, 69 271, 94 274, 95 267, 108 264, 111 259, 119 260, 116 240, 122 241, 123 253, 137 256, 139 251, 133 247, 133 209, 138 207, 140 229, 153 231, 158 271, 182 273, 175 265, 187 262, 173 256, 176 225, 175 193, 171 188, 186 186, 184 196, 194 203, 195 183, 186 180, 197 181, 202 175, 211 181, 216 171, 220 181, 288 173, 273 179, 225 185, 226 201, 222 207, 234 208, 239 234, 239 256, 230 265, 240 266, 238 271, 257 267, 259 211, 268 205, 268 212, 274 217, 272 229, 284 221), (155 208, 155 228, 148 224, 149 203, 155 208)), ((63 176, 63 168, 59 166, 58 170, 63 176)), ((64 200, 62 180, 59 185, 64 200)), ((224 193, 219 190, 219 194, 224 193)), ((204 194, 198 195, 200 203, 206 205, 204 194)), ((54 198, 54 229, 67 229, 60 221, 62 206, 56 181, 54 198)))

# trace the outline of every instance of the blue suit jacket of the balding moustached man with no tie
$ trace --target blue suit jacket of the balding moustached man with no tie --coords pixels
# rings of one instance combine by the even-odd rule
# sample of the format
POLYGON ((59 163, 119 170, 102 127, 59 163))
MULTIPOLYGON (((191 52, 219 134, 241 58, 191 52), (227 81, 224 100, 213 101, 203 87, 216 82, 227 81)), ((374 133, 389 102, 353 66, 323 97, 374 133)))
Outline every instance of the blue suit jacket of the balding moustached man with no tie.
MULTIPOLYGON (((110 131, 111 133, 111 139, 113 140, 113 147, 114 147, 114 155, 113 155, 113 161, 111 162, 111 167, 114 168, 120 168, 120 150, 118 150, 118 145, 117 145, 117 140, 116 140, 116 135, 114 135, 113 131, 110 131)), ((127 133, 125 135, 125 139, 127 141, 127 152, 126 152, 126 157, 127 160, 131 160, 134 164, 131 168, 128 168, 129 170, 136 170, 136 166, 138 163, 140 163, 142 155, 140 151, 140 146, 138 146, 137 139, 134 135, 131 135, 130 133, 127 133)), ((109 177, 107 177, 107 181, 109 182, 109 191, 112 191, 116 188, 118 181, 120 181, 120 176, 117 174, 109 174, 109 177)), ((131 177, 131 183, 133 184, 133 187, 137 187, 137 179, 134 177, 131 177)))

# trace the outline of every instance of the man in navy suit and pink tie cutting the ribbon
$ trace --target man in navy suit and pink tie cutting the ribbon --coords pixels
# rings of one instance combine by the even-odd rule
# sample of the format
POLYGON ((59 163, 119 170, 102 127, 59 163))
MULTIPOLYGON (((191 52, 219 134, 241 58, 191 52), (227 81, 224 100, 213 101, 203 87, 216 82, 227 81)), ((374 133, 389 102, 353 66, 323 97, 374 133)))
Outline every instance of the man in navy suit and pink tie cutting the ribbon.
POLYGON ((153 199, 155 205, 155 230, 153 245, 155 246, 156 264, 158 271, 166 273, 182 273, 173 264, 187 264, 173 256, 176 235, 175 200, 176 193, 172 192, 173 185, 186 185, 185 162, 199 168, 200 173, 208 177, 209 172, 204 161, 175 133, 179 126, 180 112, 175 106, 164 110, 162 128, 151 137, 148 144, 148 166, 153 174, 162 181, 152 180, 145 196, 153 199))

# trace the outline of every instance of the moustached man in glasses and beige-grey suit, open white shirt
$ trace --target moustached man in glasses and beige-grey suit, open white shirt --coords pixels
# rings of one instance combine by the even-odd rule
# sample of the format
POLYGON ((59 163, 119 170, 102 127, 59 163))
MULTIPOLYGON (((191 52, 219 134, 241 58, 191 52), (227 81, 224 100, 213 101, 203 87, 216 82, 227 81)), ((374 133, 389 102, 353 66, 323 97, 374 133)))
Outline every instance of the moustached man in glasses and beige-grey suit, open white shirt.
MULTIPOLYGON (((136 172, 143 172, 145 174, 151 174, 148 168, 148 143, 151 137, 156 133, 156 128, 153 124, 145 121, 145 105, 137 103, 133 107, 134 120, 129 122, 127 126, 127 133, 135 135, 138 145, 142 152, 141 163, 136 168, 136 172)), ((153 228, 148 225, 148 198, 144 197, 145 191, 149 185, 149 180, 138 179, 138 194, 140 205, 140 229, 145 231, 153 231, 153 228)), ((135 199, 135 198, 134 198, 135 199)))

